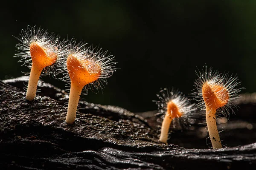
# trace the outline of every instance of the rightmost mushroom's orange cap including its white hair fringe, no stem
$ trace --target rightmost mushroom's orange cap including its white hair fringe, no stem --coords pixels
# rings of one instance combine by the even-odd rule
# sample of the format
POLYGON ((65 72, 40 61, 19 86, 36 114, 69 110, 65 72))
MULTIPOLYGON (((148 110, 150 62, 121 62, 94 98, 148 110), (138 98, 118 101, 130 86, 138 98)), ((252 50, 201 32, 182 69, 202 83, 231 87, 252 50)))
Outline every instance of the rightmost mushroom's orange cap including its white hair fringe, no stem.
POLYGON ((196 91, 194 99, 199 101, 198 108, 205 110, 206 107, 210 109, 217 109, 219 113, 227 114, 233 112, 235 99, 239 98, 239 92, 242 88, 237 88, 241 82, 238 77, 233 74, 220 74, 212 68, 203 67, 202 71, 197 72, 198 79, 195 80, 196 91))

